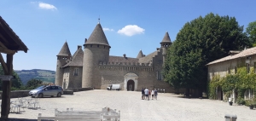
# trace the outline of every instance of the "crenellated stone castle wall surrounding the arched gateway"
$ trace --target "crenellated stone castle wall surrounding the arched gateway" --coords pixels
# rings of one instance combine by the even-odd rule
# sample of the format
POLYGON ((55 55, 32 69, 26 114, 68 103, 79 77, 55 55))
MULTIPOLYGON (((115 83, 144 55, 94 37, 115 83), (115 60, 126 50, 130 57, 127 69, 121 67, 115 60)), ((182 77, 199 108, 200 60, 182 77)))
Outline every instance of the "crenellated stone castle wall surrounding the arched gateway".
MULTIPOLYGON (((107 89, 109 84, 120 84, 125 89, 125 74, 135 73, 137 78, 137 90, 143 87, 153 88, 155 78, 152 66, 99 66, 102 78, 101 89, 107 89)), ((134 80, 135 81, 135 80, 134 80)))

